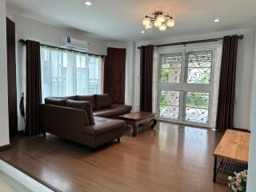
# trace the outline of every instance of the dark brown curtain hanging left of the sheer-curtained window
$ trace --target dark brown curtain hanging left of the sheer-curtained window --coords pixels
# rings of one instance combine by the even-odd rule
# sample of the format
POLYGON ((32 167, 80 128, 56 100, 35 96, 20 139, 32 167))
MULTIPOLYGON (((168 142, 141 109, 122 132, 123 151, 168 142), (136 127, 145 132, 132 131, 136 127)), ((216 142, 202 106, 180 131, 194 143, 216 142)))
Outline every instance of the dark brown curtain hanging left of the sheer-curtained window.
POLYGON ((26 129, 28 136, 41 134, 38 126, 41 93, 40 43, 26 41, 26 129))

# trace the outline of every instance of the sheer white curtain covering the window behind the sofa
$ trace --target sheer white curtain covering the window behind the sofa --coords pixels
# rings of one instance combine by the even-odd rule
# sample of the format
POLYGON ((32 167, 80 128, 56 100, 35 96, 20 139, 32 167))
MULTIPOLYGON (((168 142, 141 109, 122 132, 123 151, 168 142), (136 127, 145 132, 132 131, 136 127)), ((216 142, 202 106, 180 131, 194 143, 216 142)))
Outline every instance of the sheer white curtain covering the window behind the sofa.
POLYGON ((100 94, 102 58, 41 47, 42 99, 100 94))

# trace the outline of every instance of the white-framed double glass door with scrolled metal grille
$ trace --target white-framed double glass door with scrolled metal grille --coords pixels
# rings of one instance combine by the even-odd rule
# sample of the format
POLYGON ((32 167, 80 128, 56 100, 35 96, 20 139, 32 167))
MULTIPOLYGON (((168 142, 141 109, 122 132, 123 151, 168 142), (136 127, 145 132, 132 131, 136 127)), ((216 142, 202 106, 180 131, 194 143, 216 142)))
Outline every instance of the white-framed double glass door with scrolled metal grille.
POLYGON ((213 49, 159 53, 159 118, 209 126, 213 63, 213 49))

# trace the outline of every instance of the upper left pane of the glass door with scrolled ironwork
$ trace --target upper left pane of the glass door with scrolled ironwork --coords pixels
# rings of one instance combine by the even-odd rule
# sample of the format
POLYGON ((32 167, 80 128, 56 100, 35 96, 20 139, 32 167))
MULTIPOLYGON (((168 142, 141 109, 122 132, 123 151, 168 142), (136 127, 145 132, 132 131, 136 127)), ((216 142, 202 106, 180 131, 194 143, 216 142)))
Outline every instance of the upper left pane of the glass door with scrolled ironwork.
POLYGON ((181 81, 182 53, 160 54, 160 82, 181 81))

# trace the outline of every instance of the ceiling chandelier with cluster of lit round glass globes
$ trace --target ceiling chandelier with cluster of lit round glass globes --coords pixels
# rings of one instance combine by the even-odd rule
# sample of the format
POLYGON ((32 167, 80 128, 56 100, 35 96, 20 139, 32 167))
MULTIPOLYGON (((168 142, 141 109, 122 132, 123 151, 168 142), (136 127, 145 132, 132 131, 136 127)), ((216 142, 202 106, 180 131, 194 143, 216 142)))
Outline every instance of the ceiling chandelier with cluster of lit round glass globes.
POLYGON ((146 15, 142 19, 142 24, 146 30, 150 30, 153 26, 157 27, 161 31, 165 31, 168 27, 174 27, 175 21, 170 14, 162 13, 162 11, 154 12, 146 15))

